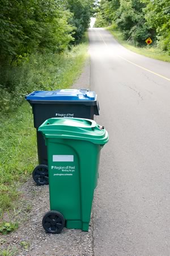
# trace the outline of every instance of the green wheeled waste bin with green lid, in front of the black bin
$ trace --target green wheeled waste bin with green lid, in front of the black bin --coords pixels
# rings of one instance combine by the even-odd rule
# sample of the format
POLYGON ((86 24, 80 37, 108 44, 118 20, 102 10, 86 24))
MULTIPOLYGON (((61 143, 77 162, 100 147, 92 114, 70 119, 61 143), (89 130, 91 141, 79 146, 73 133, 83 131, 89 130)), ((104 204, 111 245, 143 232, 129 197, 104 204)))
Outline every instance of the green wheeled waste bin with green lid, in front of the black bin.
POLYGON ((50 193, 50 211, 42 225, 52 234, 61 232, 65 224, 88 231, 100 150, 108 133, 104 126, 82 118, 50 118, 39 131, 48 151, 50 193))

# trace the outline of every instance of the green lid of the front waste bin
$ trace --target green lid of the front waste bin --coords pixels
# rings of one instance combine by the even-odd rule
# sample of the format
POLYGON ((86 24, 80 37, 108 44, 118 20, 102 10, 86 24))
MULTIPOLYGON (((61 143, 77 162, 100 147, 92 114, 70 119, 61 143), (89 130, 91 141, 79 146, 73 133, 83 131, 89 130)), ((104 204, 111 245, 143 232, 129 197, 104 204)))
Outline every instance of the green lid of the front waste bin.
POLYGON ((105 144, 109 140, 104 126, 94 120, 83 118, 50 118, 39 127, 45 138, 79 139, 95 144, 105 144))

